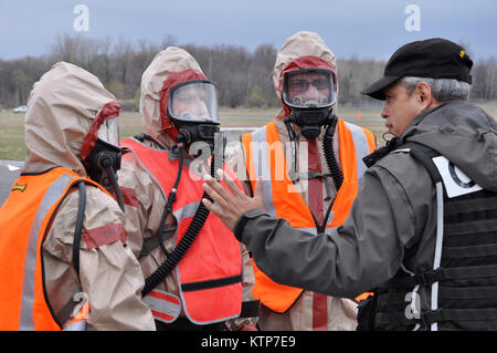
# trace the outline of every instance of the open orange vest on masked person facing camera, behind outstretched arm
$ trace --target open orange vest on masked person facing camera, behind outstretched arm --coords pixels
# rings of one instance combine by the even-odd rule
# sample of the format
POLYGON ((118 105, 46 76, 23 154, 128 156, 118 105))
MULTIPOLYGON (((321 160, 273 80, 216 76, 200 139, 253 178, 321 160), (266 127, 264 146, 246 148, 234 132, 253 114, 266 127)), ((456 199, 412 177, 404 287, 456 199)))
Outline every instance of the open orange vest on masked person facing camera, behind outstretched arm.
MULTIPOLYGON (((343 224, 357 196, 358 179, 367 169, 362 157, 376 148, 374 135, 353 124, 338 120, 338 142, 343 183, 335 198, 330 229, 343 224)), ((317 233, 316 225, 307 204, 288 177, 283 144, 274 122, 254 133, 242 135, 245 163, 252 188, 258 176, 263 177, 265 211, 276 218, 286 219, 292 228, 317 233), (283 168, 283 169, 282 169, 283 168)), ((297 301, 304 289, 274 282, 253 261, 255 285, 252 294, 265 307, 284 313, 297 301)))

